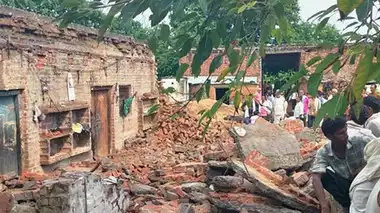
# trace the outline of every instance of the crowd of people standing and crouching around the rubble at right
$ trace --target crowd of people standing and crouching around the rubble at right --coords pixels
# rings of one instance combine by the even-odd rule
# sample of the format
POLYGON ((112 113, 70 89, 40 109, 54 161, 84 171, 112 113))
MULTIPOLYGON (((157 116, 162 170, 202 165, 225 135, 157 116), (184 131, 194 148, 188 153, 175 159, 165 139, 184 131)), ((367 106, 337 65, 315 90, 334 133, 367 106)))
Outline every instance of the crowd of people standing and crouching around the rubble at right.
MULTIPOLYGON (((318 110, 338 91, 312 97, 300 90, 288 100, 278 90, 274 95, 260 93, 250 106, 242 106, 246 122, 261 116, 275 124, 299 119, 312 127, 318 110)), ((346 116, 325 118, 320 124, 329 142, 318 150, 310 172, 322 213, 331 212, 325 190, 347 213, 380 213, 380 90, 373 85, 362 96, 360 109, 351 104, 346 116)))

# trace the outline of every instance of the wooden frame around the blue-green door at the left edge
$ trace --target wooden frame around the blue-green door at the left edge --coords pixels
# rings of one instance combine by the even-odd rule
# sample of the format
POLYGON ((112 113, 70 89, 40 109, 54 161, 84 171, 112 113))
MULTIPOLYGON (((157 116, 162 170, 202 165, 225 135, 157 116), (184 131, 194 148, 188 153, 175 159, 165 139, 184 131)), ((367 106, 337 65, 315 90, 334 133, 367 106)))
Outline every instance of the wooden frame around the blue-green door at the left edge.
MULTIPOLYGON (((15 99, 15 114, 16 114, 16 154, 17 154, 17 167, 18 174, 22 172, 22 158, 21 158, 21 131, 20 131, 20 94, 19 90, 0 91, 0 97, 13 96, 15 99)), ((27 142, 27 141, 26 141, 27 142)))

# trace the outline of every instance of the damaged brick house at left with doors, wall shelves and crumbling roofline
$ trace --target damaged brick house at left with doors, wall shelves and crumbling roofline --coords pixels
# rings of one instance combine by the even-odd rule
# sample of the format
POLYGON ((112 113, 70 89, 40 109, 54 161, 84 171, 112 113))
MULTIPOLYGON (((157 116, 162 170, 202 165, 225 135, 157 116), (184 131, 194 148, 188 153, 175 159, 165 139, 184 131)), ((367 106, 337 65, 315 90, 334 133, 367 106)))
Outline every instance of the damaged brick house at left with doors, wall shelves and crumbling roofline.
POLYGON ((152 124, 144 112, 158 101, 156 68, 145 44, 98 43, 93 29, 7 7, 0 26, 0 174, 105 156, 152 124))

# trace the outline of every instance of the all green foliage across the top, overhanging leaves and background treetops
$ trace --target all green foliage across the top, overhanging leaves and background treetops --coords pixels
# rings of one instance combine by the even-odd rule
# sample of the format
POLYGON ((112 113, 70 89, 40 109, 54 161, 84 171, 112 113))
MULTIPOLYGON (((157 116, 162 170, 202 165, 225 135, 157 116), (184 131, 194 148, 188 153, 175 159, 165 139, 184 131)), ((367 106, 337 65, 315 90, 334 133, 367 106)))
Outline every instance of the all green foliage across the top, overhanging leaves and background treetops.
MULTIPOLYGON (((41 2, 53 2, 59 5, 58 0, 14 0, 7 1, 9 4, 17 4, 21 8, 30 10, 41 10, 41 13, 53 14, 58 16, 62 26, 68 23, 85 23, 86 26, 94 25, 99 28, 99 37, 103 36, 106 30, 119 29, 126 31, 125 26, 133 23, 132 19, 146 9, 152 11, 150 21, 152 31, 147 31, 149 43, 154 47, 159 69, 165 70, 165 75, 169 73, 179 79, 189 65, 181 65, 179 69, 175 67, 175 62, 187 55, 191 48, 195 48, 195 54, 191 64, 191 73, 194 76, 200 74, 200 67, 210 56, 212 50, 223 47, 223 54, 227 55, 230 61, 229 67, 223 70, 218 77, 218 81, 223 81, 227 75, 235 75, 235 79, 229 83, 229 91, 237 91, 242 86, 242 78, 246 70, 241 70, 243 58, 250 58, 248 64, 252 64, 255 57, 253 54, 265 55, 267 44, 334 44, 338 51, 332 52, 324 58, 314 58, 307 63, 308 67, 315 66, 313 74, 309 73, 304 65, 297 73, 291 76, 287 73, 280 73, 277 78, 284 81, 283 88, 289 88, 294 83, 306 76, 309 79, 309 89, 311 94, 316 94, 324 73, 332 69, 334 73, 339 73, 340 68, 346 62, 351 64, 359 60, 359 66, 344 92, 336 95, 332 100, 325 104, 320 110, 316 123, 328 114, 331 117, 342 114, 348 103, 361 102, 361 92, 364 84, 371 79, 379 79, 380 57, 378 52, 380 42, 380 25, 377 20, 380 14, 373 13, 372 8, 378 0, 337 0, 337 4, 319 11, 310 20, 314 23, 302 22, 299 18, 299 7, 296 0, 112 0, 103 5, 98 0, 93 1, 72 1, 64 2, 66 8, 58 7, 53 12, 46 9, 42 10, 39 6, 41 2), (25 6, 30 4, 30 6, 25 6), (108 15, 99 12, 99 8, 109 7, 108 15), (356 11, 358 18, 349 15, 356 11), (119 13, 120 12, 120 13, 119 13), (94 17, 94 14, 101 14, 94 17), (339 13, 342 20, 351 20, 349 28, 345 34, 339 35, 337 30, 328 24, 332 15, 339 13), (170 16, 170 28, 161 25, 162 20, 170 16), (101 21, 94 21, 94 20, 101 21), (91 20, 91 22, 90 22, 91 20), (120 20, 120 26, 113 26, 120 20), (366 33, 360 34, 361 28, 367 28, 366 33), (347 43, 349 46, 346 46, 347 43), (346 47, 345 47, 346 46, 346 47), (240 47, 241 51, 235 51, 235 47, 240 47), (259 47, 259 50, 253 47, 259 47), (344 54, 343 54, 344 53, 344 54), (160 64, 165 66, 160 67, 160 64), (369 70, 374 70, 370 72, 369 70), (284 75, 286 75, 284 77, 284 75), (359 97, 360 96, 360 97, 359 97)), ((4 2, 4 0, 3 0, 4 2)), ((51 5, 49 5, 50 7, 51 5)), ((49 8, 51 9, 51 8, 49 8)), ((143 35, 141 35, 143 36, 143 35)), ((331 47, 331 45, 330 45, 331 47)), ((178 67, 178 63, 176 63, 178 67)), ((210 73, 219 67, 219 61, 211 63, 210 73)), ((266 77, 270 78, 270 77, 266 77)), ((202 87, 203 88, 203 87, 202 87)), ((202 93, 206 89, 202 89, 202 93)), ((230 93, 226 93, 230 95, 230 93)), ((197 96, 199 99, 201 96, 197 96)), ((227 98, 227 96, 226 96, 227 98)), ((235 98, 239 98, 236 97, 235 98)), ((205 130, 210 125, 212 117, 220 107, 218 101, 210 110, 202 115, 201 122, 207 119, 205 130)))

